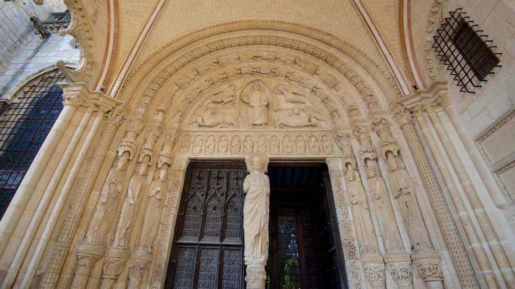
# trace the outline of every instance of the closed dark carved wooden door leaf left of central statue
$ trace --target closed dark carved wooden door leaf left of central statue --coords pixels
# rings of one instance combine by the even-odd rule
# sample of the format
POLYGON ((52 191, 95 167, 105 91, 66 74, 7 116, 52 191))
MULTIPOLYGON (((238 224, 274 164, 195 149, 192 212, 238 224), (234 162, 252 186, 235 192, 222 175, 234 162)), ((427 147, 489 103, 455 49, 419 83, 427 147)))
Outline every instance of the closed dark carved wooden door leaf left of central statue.
POLYGON ((165 288, 243 288, 245 164, 186 170, 165 288))

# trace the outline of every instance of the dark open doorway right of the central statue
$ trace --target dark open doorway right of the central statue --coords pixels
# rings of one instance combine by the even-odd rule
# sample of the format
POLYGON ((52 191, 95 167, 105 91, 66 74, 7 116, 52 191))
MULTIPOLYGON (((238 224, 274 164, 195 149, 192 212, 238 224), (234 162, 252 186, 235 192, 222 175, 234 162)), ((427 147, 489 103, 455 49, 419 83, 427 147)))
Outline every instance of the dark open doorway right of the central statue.
POLYGON ((265 287, 345 287, 327 166, 271 163, 267 175, 270 247, 265 287))

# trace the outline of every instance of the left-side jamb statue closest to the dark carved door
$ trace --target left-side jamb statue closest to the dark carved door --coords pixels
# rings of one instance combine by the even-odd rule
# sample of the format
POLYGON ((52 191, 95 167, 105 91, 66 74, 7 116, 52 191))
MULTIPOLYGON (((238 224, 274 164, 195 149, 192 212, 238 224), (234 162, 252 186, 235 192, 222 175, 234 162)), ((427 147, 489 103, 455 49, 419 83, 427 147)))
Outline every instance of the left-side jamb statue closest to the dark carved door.
POLYGON ((148 252, 152 250, 152 242, 154 241, 159 224, 159 209, 161 208, 165 192, 166 170, 160 170, 156 178, 152 180, 147 193, 148 199, 145 212, 143 213, 140 241, 138 243, 141 249, 145 249, 148 252))

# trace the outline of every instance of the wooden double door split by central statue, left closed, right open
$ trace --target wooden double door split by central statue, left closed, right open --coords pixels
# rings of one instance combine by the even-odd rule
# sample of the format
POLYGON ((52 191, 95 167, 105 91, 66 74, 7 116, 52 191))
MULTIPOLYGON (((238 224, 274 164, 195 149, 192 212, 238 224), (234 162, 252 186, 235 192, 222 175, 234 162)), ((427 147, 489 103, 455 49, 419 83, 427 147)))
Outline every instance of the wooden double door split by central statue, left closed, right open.
MULTIPOLYGON (((304 174, 317 176, 302 179, 308 182, 304 185, 293 178, 285 185, 287 176, 278 175, 282 167, 270 168, 266 288, 345 286, 342 255, 335 246, 338 233, 331 222, 334 205, 327 197, 327 171, 304 166, 304 174)), ((292 168, 289 170, 299 169, 292 168)), ((245 176, 243 163, 198 162, 188 166, 165 288, 245 288, 245 176)))

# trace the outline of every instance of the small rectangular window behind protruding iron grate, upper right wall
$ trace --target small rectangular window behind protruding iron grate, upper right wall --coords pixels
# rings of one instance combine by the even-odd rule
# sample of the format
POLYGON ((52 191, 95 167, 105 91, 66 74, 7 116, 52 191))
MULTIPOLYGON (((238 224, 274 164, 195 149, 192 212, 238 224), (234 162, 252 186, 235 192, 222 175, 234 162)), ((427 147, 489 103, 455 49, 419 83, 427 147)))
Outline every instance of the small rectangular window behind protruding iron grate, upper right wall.
POLYGON ((494 67, 501 67, 498 57, 501 53, 493 52, 496 46, 491 46, 488 35, 483 35, 483 30, 475 30, 478 25, 461 10, 449 12, 450 17, 444 19, 442 28, 433 37, 433 48, 448 66, 460 91, 473 94, 473 88, 481 87, 480 83, 487 81, 485 77, 493 74, 494 67))

